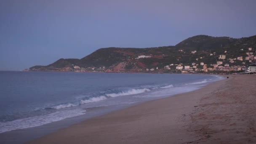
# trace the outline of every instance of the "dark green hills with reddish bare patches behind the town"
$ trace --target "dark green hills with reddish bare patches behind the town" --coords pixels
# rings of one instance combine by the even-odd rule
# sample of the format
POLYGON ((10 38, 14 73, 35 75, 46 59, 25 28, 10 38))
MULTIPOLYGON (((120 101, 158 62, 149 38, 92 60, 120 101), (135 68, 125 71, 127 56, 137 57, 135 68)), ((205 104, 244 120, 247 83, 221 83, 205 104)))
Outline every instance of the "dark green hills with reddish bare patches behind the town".
MULTIPOLYGON (((248 48, 250 56, 256 55, 256 35, 239 39, 231 37, 211 37, 197 35, 189 37, 175 46, 157 48, 100 48, 82 59, 59 59, 47 66, 30 67, 29 71, 77 71, 77 72, 152 72, 176 70, 178 64, 191 65, 204 62, 208 67, 219 61, 232 65, 245 65, 255 62, 246 61, 248 48), (195 51, 195 52, 193 52, 195 51), (236 58, 242 56, 243 61, 236 58), (233 58, 235 58, 233 60, 233 58), (231 60, 232 59, 232 60, 231 60), (231 60, 231 61, 230 61, 231 60), (232 62, 234 61, 234 62, 232 62), (244 62, 244 63, 243 63, 244 62), (173 64, 173 65, 172 65, 173 64)), ((200 67, 200 65, 198 66, 200 67)))

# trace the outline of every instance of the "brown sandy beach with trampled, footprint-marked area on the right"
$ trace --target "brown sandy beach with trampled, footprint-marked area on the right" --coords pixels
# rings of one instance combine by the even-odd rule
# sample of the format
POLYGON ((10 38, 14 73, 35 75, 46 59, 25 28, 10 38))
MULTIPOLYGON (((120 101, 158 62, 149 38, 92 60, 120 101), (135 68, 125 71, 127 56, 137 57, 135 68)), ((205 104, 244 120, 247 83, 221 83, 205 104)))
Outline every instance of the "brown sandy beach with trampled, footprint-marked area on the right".
POLYGON ((29 144, 256 143, 256 75, 147 101, 61 129, 29 144))

